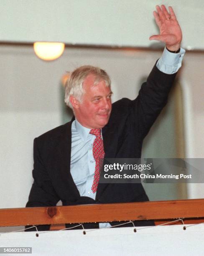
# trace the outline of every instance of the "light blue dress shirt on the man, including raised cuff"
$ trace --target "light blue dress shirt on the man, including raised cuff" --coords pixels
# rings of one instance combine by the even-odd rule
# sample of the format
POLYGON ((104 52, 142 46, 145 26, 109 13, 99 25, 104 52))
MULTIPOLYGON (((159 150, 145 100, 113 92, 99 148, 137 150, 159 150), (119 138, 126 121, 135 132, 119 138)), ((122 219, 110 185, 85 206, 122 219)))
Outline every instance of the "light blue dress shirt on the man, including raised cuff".
MULTIPOLYGON (((181 48, 178 54, 163 51, 157 62, 157 68, 166 74, 173 74, 181 67, 185 50, 181 48)), ((77 120, 71 125, 71 165, 70 172, 79 194, 95 200, 96 193, 92 192, 94 181, 95 160, 93 156, 93 143, 96 138, 90 134, 91 129, 82 126, 77 120)), ((109 228, 110 223, 99 223, 99 228, 109 228)))

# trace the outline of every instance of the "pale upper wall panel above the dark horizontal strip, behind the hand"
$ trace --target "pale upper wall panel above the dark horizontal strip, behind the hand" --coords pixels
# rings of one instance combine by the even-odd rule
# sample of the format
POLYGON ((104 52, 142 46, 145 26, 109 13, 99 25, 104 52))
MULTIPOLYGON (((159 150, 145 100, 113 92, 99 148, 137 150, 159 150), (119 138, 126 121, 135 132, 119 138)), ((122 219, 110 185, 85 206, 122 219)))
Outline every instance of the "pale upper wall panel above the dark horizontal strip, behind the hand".
POLYGON ((204 48, 203 0, 1 0, 0 41, 150 46, 157 4, 172 5, 183 47, 204 48))

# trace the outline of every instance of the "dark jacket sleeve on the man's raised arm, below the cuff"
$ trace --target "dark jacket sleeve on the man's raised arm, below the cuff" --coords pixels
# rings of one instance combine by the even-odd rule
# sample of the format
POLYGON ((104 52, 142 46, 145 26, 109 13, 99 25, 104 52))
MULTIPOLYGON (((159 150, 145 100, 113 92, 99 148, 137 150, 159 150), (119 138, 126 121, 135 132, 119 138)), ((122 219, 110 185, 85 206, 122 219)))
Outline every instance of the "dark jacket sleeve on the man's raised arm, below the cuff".
POLYGON ((138 97, 132 101, 134 116, 140 136, 144 138, 168 100, 175 74, 161 72, 156 64, 150 72, 147 82, 143 83, 138 97))

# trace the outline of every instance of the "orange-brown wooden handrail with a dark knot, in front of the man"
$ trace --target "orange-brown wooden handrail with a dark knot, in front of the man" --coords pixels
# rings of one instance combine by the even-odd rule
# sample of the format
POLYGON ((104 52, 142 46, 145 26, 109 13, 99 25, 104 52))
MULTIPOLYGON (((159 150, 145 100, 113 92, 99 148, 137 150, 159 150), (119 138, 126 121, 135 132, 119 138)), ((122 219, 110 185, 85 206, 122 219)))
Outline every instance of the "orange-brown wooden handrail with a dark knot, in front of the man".
POLYGON ((204 219, 204 199, 0 209, 0 226, 204 219))

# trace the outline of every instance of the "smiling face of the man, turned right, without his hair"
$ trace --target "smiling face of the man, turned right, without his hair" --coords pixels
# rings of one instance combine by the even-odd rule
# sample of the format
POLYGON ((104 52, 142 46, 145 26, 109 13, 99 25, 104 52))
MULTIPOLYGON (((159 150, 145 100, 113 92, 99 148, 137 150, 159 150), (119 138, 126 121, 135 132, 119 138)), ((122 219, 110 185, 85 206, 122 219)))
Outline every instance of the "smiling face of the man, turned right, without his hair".
POLYGON ((83 83, 82 102, 74 108, 76 119, 87 128, 102 128, 109 120, 112 92, 102 80, 94 85, 95 76, 89 74, 83 83))

